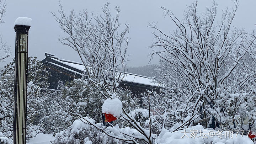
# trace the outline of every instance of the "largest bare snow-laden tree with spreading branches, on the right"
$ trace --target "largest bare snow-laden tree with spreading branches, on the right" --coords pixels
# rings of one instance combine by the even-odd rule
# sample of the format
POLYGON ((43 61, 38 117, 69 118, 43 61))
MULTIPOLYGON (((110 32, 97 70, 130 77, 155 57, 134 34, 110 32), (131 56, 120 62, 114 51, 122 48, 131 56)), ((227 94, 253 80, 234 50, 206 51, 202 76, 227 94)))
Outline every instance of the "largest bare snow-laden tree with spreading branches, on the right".
POLYGON ((154 23, 153 55, 161 58, 159 72, 168 86, 164 94, 152 97, 153 108, 173 131, 203 123, 221 129, 251 129, 255 122, 255 33, 233 27, 238 0, 233 9, 222 11, 220 21, 217 3, 206 13, 197 11, 197 1, 176 17, 161 7, 165 17, 176 25, 165 32, 154 23), (161 114, 164 113, 164 114, 161 114), (240 117, 240 118, 239 118, 240 117), (246 118, 249 124, 241 128, 246 118), (247 127, 247 128, 246 128, 247 127))

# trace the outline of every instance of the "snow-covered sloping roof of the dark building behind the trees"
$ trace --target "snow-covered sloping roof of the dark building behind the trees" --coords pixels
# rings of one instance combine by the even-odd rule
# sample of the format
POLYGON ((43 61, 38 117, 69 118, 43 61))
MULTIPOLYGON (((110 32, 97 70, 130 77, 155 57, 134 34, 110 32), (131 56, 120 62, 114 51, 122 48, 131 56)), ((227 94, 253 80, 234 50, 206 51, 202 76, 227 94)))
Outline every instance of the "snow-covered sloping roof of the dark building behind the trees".
MULTIPOLYGON (((48 62, 48 63, 53 64, 55 66, 59 66, 60 68, 68 70, 72 73, 82 75, 81 71, 85 70, 85 66, 82 63, 73 62, 73 61, 65 60, 65 59, 59 59, 54 54, 50 54, 50 53, 45 53, 45 55, 50 60, 50 62, 48 62), (71 69, 71 68, 73 68, 73 69, 71 69)), ((120 77, 123 82, 142 84, 142 85, 148 85, 148 86, 153 86, 153 87, 164 87, 164 85, 161 84, 160 82, 156 81, 153 78, 147 77, 147 76, 123 72, 120 77)))

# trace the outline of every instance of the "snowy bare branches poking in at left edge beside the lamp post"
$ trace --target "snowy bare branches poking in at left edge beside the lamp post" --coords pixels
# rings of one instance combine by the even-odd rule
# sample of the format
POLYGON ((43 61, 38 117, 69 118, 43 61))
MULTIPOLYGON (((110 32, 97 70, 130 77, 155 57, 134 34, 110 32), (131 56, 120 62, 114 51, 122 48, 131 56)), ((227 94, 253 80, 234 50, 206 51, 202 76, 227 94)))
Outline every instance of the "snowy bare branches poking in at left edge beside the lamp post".
MULTIPOLYGON (((6 1, 0 0, 0 24, 3 23, 3 17, 6 12, 6 1)), ((2 41, 2 34, 0 31, 0 62, 2 62, 5 58, 10 57, 10 47, 2 41)))

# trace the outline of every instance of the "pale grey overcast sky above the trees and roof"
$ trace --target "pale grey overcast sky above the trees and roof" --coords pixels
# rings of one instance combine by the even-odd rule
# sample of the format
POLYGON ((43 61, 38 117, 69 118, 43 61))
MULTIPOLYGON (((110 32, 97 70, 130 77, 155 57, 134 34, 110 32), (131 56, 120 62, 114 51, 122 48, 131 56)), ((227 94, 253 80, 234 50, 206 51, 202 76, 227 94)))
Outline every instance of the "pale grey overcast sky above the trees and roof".
MULTIPOLYGON (((225 7, 231 8, 231 0, 217 0, 219 3, 219 12, 225 7)), ((39 60, 45 58, 44 52, 53 53, 59 58, 80 62, 76 52, 60 44, 58 37, 63 33, 58 23, 49 11, 58 11, 58 0, 6 0, 7 11, 4 17, 5 23, 0 25, 0 32, 3 40, 11 46, 12 57, 15 55, 15 31, 13 23, 17 17, 30 17, 33 19, 29 32, 29 55, 37 56, 39 60)), ((105 0, 62 0, 66 12, 70 9, 87 11, 101 14, 101 6, 105 0)), ((148 54, 152 51, 149 49, 153 31, 146 26, 151 22, 158 22, 158 26, 165 31, 172 31, 174 25, 168 17, 163 17, 163 11, 159 6, 164 6, 174 12, 177 17, 182 18, 186 6, 190 5, 192 0, 109 0, 111 7, 115 5, 121 7, 121 23, 130 25, 130 43, 128 53, 130 61, 128 66, 141 66, 149 63, 148 54)), ((199 12, 204 12, 205 6, 210 6, 211 0, 199 0, 199 12)), ((234 26, 245 28, 247 31, 256 30, 256 0, 240 0, 234 26)), ((0 67, 10 62, 0 63, 0 67)), ((152 63, 158 63, 158 58, 154 58, 152 63)))

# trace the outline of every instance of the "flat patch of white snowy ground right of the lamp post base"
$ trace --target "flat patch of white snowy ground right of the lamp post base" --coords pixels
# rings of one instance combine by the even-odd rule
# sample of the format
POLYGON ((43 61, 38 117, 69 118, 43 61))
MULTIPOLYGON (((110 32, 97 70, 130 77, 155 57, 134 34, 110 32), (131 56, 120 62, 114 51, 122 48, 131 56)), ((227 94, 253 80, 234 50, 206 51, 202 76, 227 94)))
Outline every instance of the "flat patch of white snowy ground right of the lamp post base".
POLYGON ((51 144, 54 137, 52 134, 39 133, 36 137, 31 138, 27 144, 51 144))

